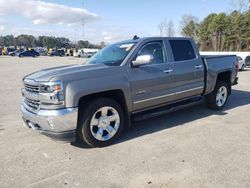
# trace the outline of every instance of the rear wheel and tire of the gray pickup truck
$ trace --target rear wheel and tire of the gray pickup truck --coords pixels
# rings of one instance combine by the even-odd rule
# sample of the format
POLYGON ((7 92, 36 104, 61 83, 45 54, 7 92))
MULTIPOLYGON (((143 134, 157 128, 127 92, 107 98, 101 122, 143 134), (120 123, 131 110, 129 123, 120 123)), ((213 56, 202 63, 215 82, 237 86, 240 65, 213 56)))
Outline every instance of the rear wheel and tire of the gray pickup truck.
POLYGON ((213 110, 220 110, 227 103, 228 95, 228 84, 223 81, 218 81, 216 83, 214 91, 205 97, 206 104, 209 108, 213 110))

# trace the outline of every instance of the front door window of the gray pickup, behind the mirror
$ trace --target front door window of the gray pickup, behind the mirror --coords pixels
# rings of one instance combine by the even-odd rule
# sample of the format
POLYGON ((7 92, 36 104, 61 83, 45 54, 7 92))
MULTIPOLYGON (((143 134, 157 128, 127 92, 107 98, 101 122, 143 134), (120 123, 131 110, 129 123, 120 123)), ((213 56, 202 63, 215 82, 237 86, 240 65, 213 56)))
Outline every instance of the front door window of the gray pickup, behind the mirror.
POLYGON ((165 62, 165 54, 162 42, 150 42, 145 44, 137 54, 137 56, 140 55, 151 55, 153 57, 152 63, 154 64, 165 62))

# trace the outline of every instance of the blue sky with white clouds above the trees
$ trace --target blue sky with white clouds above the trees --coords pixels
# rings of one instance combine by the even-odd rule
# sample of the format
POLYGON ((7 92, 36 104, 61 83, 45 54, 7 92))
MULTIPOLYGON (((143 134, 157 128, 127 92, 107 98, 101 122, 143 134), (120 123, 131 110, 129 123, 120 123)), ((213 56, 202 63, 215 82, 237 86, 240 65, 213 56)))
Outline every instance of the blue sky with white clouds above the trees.
POLYGON ((172 20, 180 35, 183 15, 202 20, 233 9, 236 0, 0 0, 0 35, 32 34, 72 41, 111 43, 160 34, 158 25, 172 20), (83 32, 84 20, 84 32, 83 32), (84 34, 83 34, 84 33, 84 34))

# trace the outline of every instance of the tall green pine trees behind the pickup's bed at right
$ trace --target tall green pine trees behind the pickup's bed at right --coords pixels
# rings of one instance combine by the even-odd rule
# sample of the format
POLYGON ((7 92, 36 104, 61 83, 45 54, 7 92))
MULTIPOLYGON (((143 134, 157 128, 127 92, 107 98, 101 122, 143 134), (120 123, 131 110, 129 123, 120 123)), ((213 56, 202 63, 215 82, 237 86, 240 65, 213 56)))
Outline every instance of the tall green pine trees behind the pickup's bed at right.
POLYGON ((192 37, 202 51, 250 51, 250 10, 209 14, 202 21, 182 17, 182 35, 192 37))

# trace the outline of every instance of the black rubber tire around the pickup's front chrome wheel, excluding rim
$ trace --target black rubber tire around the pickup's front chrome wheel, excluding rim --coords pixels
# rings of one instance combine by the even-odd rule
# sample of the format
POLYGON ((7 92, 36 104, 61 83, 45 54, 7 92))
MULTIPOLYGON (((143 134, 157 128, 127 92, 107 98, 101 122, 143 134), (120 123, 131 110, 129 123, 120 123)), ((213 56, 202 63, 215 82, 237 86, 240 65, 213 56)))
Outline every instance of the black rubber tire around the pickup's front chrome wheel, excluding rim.
POLYGON ((121 133, 124 130, 125 119, 124 119, 123 109, 116 101, 114 101, 112 99, 100 98, 100 99, 96 99, 96 100, 90 102, 88 104, 87 108, 85 109, 85 112, 83 112, 81 116, 82 117, 80 117, 80 126, 78 127, 78 135, 87 144, 89 144, 93 147, 105 147, 105 146, 110 145, 121 135, 121 133), (118 112, 119 117, 120 117, 120 125, 119 125, 118 131, 110 140, 99 141, 99 140, 95 139, 91 133, 90 122, 91 122, 91 119, 92 119, 92 116, 94 115, 94 113, 98 109, 100 109, 104 106, 110 106, 110 107, 113 107, 114 109, 116 109, 116 111, 118 112))

